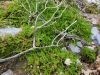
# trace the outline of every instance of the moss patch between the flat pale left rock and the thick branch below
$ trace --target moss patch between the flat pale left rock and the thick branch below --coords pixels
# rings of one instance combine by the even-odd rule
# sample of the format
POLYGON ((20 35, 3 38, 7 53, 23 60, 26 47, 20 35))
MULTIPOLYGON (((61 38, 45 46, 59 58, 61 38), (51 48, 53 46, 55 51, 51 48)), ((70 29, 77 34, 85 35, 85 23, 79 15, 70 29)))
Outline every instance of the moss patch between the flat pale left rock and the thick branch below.
POLYGON ((29 49, 32 46, 32 33, 33 28, 24 25, 22 26, 22 31, 15 36, 8 34, 0 37, 0 57, 29 49))

